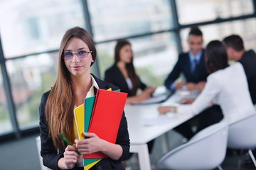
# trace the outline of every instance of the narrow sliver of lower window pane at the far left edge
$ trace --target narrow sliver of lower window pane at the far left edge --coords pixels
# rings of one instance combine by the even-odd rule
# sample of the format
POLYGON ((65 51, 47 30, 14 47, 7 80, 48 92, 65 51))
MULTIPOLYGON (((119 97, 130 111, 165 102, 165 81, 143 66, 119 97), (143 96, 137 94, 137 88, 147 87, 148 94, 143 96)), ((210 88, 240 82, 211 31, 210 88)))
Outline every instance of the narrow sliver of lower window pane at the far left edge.
POLYGON ((9 115, 6 93, 4 90, 3 77, 0 66, 0 135, 12 131, 11 118, 9 115))

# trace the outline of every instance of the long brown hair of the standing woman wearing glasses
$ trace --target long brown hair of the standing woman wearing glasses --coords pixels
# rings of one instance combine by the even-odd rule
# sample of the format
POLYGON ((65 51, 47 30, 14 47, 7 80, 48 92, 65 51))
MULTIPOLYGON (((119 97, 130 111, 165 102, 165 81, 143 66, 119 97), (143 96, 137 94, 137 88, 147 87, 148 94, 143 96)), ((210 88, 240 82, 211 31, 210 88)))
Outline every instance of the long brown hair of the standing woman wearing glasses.
MULTIPOLYGON (((70 28, 65 32, 60 42, 58 55, 58 75, 46 102, 46 121, 49 135, 53 138, 53 144, 60 151, 65 150, 65 143, 58 136, 62 133, 70 142, 75 140, 74 115, 75 86, 70 78, 70 72, 63 60, 63 51, 71 38, 80 38, 92 51, 92 59, 96 59, 96 49, 92 36, 80 27, 70 28)), ((93 62, 91 63, 91 65, 93 62)))

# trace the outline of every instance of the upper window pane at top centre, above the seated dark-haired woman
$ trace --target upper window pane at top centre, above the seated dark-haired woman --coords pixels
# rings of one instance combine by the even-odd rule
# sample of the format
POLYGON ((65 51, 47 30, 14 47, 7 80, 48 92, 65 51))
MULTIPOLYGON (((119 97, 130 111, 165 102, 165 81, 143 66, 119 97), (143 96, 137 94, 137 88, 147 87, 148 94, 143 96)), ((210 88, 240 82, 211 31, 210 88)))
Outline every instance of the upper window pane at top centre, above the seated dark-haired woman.
POLYGON ((89 0, 96 41, 150 33, 173 26, 168 0, 89 0))

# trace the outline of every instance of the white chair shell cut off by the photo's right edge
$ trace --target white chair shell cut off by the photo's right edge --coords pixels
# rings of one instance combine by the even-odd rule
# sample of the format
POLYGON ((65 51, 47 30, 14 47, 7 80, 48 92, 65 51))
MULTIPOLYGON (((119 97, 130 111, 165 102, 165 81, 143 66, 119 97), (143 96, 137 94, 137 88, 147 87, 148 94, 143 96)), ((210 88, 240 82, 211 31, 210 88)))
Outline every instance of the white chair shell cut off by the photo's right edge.
POLYGON ((250 149, 256 147, 256 113, 229 125, 228 147, 250 149))

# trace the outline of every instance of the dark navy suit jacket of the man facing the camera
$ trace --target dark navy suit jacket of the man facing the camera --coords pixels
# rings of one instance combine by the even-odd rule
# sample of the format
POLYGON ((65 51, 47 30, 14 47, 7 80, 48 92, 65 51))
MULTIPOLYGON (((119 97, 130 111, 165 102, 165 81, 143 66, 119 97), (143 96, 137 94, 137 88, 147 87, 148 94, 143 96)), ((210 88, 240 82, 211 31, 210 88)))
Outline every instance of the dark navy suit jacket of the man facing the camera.
POLYGON ((196 67, 196 74, 191 73, 191 61, 189 59, 188 52, 178 55, 178 61, 176 62, 174 69, 164 81, 164 86, 166 86, 167 89, 171 89, 171 84, 178 79, 181 73, 184 75, 186 82, 198 83, 199 81, 206 81, 208 72, 206 71, 204 50, 202 52, 200 62, 196 67))

